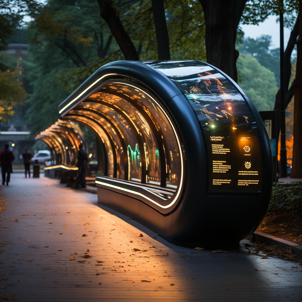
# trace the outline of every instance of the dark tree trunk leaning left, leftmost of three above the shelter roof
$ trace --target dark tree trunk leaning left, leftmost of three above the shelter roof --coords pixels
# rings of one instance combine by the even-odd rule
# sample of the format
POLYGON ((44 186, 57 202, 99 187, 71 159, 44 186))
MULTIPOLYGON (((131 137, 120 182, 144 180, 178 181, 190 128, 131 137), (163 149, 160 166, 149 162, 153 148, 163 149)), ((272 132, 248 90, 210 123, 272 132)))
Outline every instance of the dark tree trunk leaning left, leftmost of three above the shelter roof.
POLYGON ((129 35, 120 21, 117 10, 112 0, 98 0, 101 17, 108 24, 120 50, 126 60, 139 60, 136 48, 134 47, 129 35))

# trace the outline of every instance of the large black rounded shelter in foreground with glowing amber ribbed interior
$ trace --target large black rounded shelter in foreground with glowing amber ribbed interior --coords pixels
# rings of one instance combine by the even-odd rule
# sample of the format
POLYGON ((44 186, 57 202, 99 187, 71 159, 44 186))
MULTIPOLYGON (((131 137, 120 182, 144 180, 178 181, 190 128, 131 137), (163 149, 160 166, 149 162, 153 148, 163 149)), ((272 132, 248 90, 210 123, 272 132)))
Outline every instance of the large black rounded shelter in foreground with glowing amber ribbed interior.
POLYGON ((98 201, 163 238, 238 242, 264 217, 272 185, 268 135, 246 94, 214 66, 112 62, 59 113, 100 140, 98 201))

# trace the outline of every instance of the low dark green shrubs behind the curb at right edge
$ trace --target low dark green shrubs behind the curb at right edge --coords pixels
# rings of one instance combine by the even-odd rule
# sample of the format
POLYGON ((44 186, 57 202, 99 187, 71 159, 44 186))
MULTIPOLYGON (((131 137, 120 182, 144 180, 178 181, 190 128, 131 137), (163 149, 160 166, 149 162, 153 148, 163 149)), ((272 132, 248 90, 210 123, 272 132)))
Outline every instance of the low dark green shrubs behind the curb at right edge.
POLYGON ((302 216, 302 182, 294 182, 289 187, 273 187, 269 209, 274 207, 293 209, 302 216))

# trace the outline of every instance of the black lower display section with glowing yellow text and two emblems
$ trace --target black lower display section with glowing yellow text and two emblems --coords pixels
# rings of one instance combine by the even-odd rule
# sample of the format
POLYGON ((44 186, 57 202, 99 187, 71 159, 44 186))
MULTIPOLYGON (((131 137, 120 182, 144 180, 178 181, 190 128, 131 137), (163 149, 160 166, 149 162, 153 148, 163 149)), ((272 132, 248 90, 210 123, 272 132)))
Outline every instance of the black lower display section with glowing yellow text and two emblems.
POLYGON ((261 159, 256 137, 209 137, 209 191, 260 192, 261 159))

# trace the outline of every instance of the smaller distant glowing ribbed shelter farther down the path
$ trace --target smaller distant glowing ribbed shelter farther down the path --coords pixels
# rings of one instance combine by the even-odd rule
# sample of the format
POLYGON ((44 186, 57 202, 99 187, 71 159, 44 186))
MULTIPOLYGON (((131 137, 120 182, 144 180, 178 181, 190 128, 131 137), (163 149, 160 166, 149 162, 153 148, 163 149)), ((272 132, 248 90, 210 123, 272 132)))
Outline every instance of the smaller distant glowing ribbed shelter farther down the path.
POLYGON ((43 140, 50 148, 51 164, 45 170, 78 169, 76 167, 79 145, 85 146, 79 126, 72 121, 58 120, 35 138, 43 140))

